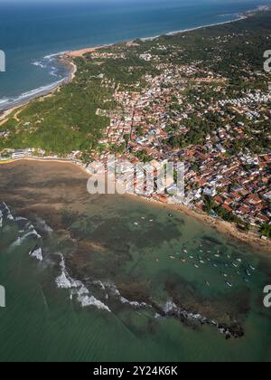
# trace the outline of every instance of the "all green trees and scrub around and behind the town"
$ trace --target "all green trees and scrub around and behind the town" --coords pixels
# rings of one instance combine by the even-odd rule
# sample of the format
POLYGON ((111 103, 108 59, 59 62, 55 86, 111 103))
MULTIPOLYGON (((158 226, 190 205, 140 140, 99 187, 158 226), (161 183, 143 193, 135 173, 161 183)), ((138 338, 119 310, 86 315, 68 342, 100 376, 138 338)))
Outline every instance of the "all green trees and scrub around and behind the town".
MULTIPOLYGON (((5 138, 0 139, 0 151, 34 147, 65 156, 79 150, 88 157, 91 151, 99 149, 98 140, 109 123, 109 118, 101 115, 109 115, 116 109, 114 91, 141 90, 146 85, 145 75, 159 74, 163 63, 195 63, 199 71, 209 68, 221 78, 221 81, 201 86, 199 91, 197 81, 188 76, 190 86, 183 92, 187 96, 186 104, 180 106, 176 98, 169 104, 169 115, 182 111, 188 104, 194 104, 195 109, 182 123, 183 128, 189 129, 188 133, 178 136, 181 126, 168 127, 172 137, 165 143, 173 148, 201 145, 211 132, 227 123, 210 111, 204 112, 202 117, 202 109, 206 111, 208 104, 223 99, 220 88, 226 90, 229 97, 242 96, 248 89, 267 90, 263 52, 270 49, 270 18, 271 12, 259 12, 238 23, 162 36, 153 41, 137 40, 131 46, 118 43, 99 50, 112 54, 107 58, 93 58, 92 54, 77 58, 78 71, 72 83, 63 85, 51 97, 31 102, 0 127, 0 133, 6 132, 5 138), (145 52, 150 52, 154 60, 141 59, 140 54, 145 52), (227 81, 222 81, 223 78, 227 81), (200 100, 204 100, 202 106, 197 105, 200 100)), ((267 108, 270 109, 270 104, 267 108)), ((242 119, 232 109, 226 112, 235 122, 242 119)), ((270 149, 270 139, 266 138, 270 133, 270 120, 260 119, 256 131, 248 119, 244 117, 242 121, 246 122, 248 138, 233 143, 229 154, 236 155, 245 148, 254 153, 270 149)), ((136 135, 142 132, 142 128, 138 128, 136 135)), ((113 147, 113 150, 121 152, 124 148, 113 147)))

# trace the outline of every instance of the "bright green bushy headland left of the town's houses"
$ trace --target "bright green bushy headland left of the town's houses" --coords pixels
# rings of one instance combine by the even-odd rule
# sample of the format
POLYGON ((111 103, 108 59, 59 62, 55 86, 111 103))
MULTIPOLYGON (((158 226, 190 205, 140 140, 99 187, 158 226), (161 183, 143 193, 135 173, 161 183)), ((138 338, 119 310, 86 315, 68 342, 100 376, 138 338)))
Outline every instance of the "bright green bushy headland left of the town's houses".
POLYGON ((34 100, 0 129, 9 130, 0 139, 0 150, 7 147, 42 148, 47 153, 65 155, 72 150, 89 151, 98 147, 98 138, 109 119, 98 116, 97 109, 114 106, 112 93, 101 87, 101 80, 86 79, 78 61, 76 80, 64 85, 51 97, 34 100), (110 101, 104 103, 104 99, 110 101))

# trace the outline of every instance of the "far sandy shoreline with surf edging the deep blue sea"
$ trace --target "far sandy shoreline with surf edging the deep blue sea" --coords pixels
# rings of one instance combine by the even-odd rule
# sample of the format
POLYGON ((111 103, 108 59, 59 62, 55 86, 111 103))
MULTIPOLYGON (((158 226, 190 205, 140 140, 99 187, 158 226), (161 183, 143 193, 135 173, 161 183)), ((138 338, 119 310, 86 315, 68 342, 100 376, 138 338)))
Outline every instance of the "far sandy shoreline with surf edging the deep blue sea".
MULTIPOLYGON (((134 43, 136 39, 139 39, 142 42, 154 41, 155 39, 161 38, 164 35, 173 36, 176 34, 190 33, 193 31, 197 31, 197 30, 201 30, 201 29, 205 29, 205 28, 211 28, 211 27, 215 27, 215 26, 219 26, 219 25, 237 23, 239 21, 248 19, 249 17, 253 16, 257 12, 265 12, 265 11, 270 10, 270 9, 271 9, 271 5, 259 5, 259 6, 257 6, 256 9, 252 9, 252 10, 244 11, 243 13, 236 14, 237 18, 234 20, 229 20, 229 21, 224 21, 221 23, 214 23, 214 24, 205 24, 205 25, 201 25, 201 26, 195 26, 192 28, 182 29, 179 31, 173 31, 173 32, 168 32, 168 33, 160 33, 156 36, 149 36, 149 37, 142 37, 142 38, 136 38, 135 37, 133 40, 130 40, 130 41, 107 43, 107 44, 103 44, 103 45, 82 48, 82 49, 74 50, 74 51, 56 52, 55 54, 51 54, 51 55, 56 56, 58 58, 58 60, 63 63, 64 66, 70 67, 70 72, 68 73, 67 77, 63 78, 59 83, 51 83, 47 86, 44 86, 44 87, 50 87, 51 86, 52 88, 49 90, 44 90, 43 92, 41 91, 40 93, 33 95, 33 97, 30 96, 29 99, 17 100, 17 101, 14 101, 13 103, 11 103, 10 105, 7 105, 6 108, 0 110, 0 121, 3 120, 3 115, 1 115, 1 113, 5 113, 5 112, 10 110, 10 112, 7 114, 7 115, 9 115, 11 112, 13 112, 14 109, 25 106, 33 100, 37 100, 37 99, 46 97, 48 95, 51 95, 51 94, 53 94, 53 92, 55 90, 60 89, 63 84, 67 84, 67 83, 70 83, 70 81, 73 81, 75 78, 76 71, 77 71, 77 66, 73 62, 73 59, 76 57, 82 57, 84 54, 86 54, 88 52, 95 52, 96 50, 99 50, 99 49, 112 47, 117 43, 126 43, 128 46, 129 43, 134 43)), ((229 15, 232 15, 232 14, 229 14, 229 15)), ((33 91, 35 91, 35 90, 39 90, 39 89, 33 89, 33 91)))

